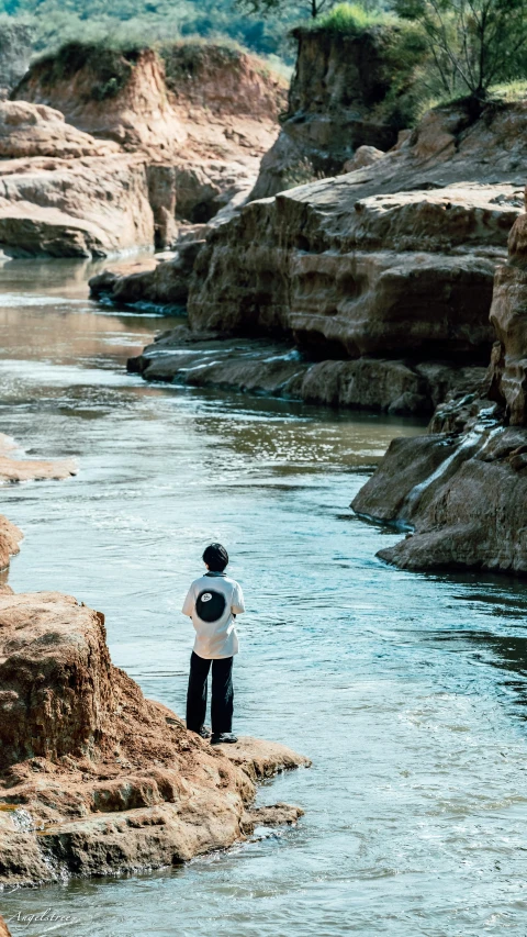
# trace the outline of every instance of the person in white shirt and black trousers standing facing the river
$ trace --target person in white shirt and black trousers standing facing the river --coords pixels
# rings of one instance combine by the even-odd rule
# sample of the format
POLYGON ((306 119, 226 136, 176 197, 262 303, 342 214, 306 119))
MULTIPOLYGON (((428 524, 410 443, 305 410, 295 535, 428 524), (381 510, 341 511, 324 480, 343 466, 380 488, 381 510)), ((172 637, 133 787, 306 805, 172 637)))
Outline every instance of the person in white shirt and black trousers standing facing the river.
POLYGON ((208 571, 195 579, 182 607, 195 628, 187 693, 187 728, 211 738, 204 725, 206 679, 212 662, 212 745, 237 741, 233 735, 233 657, 238 652, 235 617, 245 612, 240 585, 225 573, 228 554, 211 544, 203 554, 208 571))

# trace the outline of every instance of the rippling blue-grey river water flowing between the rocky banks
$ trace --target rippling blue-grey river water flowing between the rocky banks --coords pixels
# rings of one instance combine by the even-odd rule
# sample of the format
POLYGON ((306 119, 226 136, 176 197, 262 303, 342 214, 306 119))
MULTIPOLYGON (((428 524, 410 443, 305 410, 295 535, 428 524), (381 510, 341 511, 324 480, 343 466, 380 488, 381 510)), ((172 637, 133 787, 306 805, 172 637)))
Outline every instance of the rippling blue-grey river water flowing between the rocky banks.
POLYGON ((124 361, 166 323, 99 310, 89 272, 0 268, 0 426, 80 468, 2 489, 25 532, 9 581, 104 611, 114 662, 182 712, 179 609, 223 540, 248 605, 235 727, 313 768, 260 790, 305 808, 295 828, 183 868, 4 893, 14 937, 526 935, 526 585, 383 566, 395 536, 348 505, 418 426, 146 386, 124 361))

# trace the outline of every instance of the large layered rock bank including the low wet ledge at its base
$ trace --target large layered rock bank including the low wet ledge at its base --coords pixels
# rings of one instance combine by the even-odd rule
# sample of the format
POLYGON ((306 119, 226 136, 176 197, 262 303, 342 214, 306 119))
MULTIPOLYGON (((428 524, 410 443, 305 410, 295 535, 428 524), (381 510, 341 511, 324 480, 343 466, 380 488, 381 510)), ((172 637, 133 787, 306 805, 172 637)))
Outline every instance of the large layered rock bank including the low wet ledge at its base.
MULTIPOLYGON (((191 333, 164 335, 131 368, 391 413, 467 392, 484 377, 494 271, 522 211, 524 122, 524 104, 431 111, 363 168, 245 205, 197 254, 191 333), (251 356, 225 342, 240 335, 264 345, 251 356)), ((181 303, 179 270, 114 279, 113 298, 133 301, 141 282, 143 301, 166 302, 173 276, 181 303)))

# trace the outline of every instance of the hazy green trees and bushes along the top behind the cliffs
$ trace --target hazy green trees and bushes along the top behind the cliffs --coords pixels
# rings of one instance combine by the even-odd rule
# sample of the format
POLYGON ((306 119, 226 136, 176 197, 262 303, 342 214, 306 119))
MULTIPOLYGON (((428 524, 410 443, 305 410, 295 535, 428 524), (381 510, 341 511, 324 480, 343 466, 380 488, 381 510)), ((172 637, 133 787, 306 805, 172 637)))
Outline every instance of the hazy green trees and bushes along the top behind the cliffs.
POLYGON ((213 54, 233 64, 250 51, 289 75, 298 26, 378 36, 388 88, 380 118, 397 126, 461 97, 523 98, 527 79, 527 0, 0 0, 0 47, 13 25, 31 30, 49 63, 55 54, 57 77, 89 57, 99 100, 119 93, 146 46, 175 83, 199 70, 205 49, 209 62, 213 54))

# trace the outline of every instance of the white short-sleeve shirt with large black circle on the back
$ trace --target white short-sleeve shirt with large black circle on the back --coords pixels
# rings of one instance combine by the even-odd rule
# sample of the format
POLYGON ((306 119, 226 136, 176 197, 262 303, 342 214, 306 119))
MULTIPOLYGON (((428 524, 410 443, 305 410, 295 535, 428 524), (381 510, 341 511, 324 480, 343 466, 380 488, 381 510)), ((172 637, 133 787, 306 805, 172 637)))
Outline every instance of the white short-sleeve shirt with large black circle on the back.
POLYGON ((238 652, 234 616, 245 612, 245 604, 235 579, 225 572, 205 572, 192 582, 181 611, 192 618, 198 657, 218 660, 238 652))

